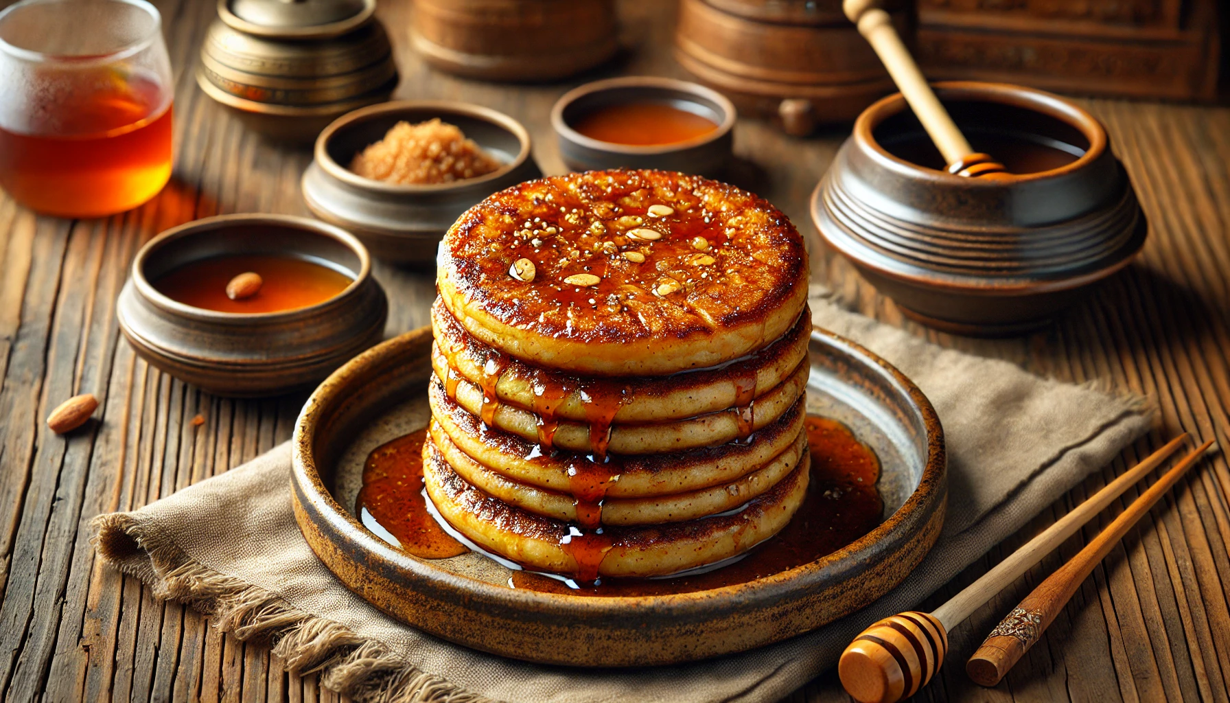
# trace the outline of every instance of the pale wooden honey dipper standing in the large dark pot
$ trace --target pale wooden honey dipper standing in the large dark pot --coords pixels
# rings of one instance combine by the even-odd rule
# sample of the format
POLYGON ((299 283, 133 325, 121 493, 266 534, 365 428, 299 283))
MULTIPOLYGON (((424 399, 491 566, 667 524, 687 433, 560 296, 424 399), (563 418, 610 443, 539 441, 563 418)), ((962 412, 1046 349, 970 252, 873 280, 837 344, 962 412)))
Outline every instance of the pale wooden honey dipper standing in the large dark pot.
POLYGON ((974 148, 969 145, 966 135, 961 133, 948 111, 940 103, 940 98, 935 96, 935 91, 922 76, 922 71, 914 63, 914 57, 910 55, 909 49, 897 34, 893 20, 877 0, 845 0, 841 9, 846 17, 857 25, 859 33, 879 55, 879 60, 888 69, 888 75, 893 78, 893 82, 902 91, 905 102, 918 116, 922 128, 940 149, 940 154, 943 155, 950 174, 994 180, 1011 180, 1014 177, 1004 164, 989 154, 974 151, 974 148))

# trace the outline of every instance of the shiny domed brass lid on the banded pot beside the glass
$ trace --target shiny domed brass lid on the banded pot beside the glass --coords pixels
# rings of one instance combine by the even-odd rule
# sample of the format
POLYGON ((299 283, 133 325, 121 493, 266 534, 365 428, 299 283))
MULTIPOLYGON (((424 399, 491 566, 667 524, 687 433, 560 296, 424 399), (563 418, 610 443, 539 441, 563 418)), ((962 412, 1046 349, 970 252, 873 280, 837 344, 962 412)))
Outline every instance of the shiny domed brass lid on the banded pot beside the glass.
POLYGON ((344 34, 371 18, 375 9, 375 0, 218 0, 218 16, 226 25, 282 39, 344 34))

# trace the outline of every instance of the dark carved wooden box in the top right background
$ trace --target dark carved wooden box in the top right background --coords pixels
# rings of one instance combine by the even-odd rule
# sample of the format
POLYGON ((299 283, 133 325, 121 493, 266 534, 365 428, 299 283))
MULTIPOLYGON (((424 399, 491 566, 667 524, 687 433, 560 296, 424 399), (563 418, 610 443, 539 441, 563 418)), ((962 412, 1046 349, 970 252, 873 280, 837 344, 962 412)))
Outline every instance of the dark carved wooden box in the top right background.
POLYGON ((916 52, 934 79, 1209 100, 1218 85, 1216 5, 1216 0, 919 0, 916 52))

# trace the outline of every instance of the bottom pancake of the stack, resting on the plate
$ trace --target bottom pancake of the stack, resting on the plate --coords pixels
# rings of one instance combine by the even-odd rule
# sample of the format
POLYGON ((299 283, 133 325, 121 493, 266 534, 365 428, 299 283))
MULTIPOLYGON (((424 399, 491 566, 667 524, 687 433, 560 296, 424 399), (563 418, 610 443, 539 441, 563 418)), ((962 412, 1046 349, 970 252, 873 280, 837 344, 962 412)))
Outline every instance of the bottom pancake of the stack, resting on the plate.
POLYGON ((530 569, 595 576, 659 576, 747 552, 790 522, 807 494, 809 456, 742 510, 662 526, 582 532, 513 507, 467 484, 435 446, 423 443, 423 484, 435 510, 483 549, 530 569))

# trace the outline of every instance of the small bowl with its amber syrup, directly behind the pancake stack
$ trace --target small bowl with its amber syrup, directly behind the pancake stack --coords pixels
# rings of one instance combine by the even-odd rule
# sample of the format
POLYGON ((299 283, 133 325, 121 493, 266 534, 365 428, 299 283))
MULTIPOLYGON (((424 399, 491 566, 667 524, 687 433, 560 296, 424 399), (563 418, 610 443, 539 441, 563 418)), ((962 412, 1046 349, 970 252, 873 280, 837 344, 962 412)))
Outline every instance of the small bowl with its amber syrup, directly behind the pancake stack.
POLYGON ((720 175, 737 113, 695 82, 627 76, 585 84, 551 110, 560 156, 573 171, 659 169, 720 175))

